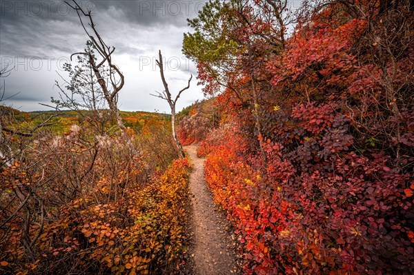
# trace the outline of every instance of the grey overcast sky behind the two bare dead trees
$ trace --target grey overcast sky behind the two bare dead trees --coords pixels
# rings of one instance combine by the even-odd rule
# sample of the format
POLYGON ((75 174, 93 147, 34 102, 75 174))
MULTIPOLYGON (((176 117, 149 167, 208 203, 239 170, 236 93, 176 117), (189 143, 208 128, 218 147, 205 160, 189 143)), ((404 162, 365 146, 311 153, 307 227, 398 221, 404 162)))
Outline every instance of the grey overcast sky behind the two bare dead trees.
MULTIPOLYGON (((112 61, 124 73, 126 84, 119 94, 120 110, 169 112, 168 103, 150 96, 163 89, 155 66, 158 50, 166 57, 166 78, 172 92, 186 86, 195 65, 181 54, 183 33, 191 31, 186 19, 196 17, 205 1, 78 1, 92 10, 97 30, 115 46, 112 61), (169 62, 168 62, 169 61, 169 62)), ((62 82, 62 65, 80 52, 88 37, 74 11, 63 1, 0 0, 0 62, 13 68, 6 81, 3 102, 23 111, 46 110, 58 97, 55 81, 62 82)), ((193 79, 177 103, 181 110, 202 99, 193 79)))

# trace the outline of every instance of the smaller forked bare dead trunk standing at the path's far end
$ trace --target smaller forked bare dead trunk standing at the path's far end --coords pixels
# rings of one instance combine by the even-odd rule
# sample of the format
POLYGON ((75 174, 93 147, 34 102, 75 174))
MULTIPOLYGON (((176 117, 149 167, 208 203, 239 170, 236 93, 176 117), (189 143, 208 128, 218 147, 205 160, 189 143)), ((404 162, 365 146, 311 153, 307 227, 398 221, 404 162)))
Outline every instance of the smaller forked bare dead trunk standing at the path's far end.
POLYGON ((184 150, 183 147, 181 146, 181 143, 178 140, 177 137, 177 130, 175 129, 175 104, 177 103, 177 100, 179 99, 179 96, 181 96, 181 93, 184 92, 185 90, 187 90, 188 88, 190 88, 190 82, 191 79, 193 79, 193 74, 191 74, 190 79, 188 79, 188 85, 185 88, 182 88, 181 90, 179 90, 177 96, 175 96, 175 99, 172 99, 172 95, 170 92, 170 89, 168 88, 168 83, 166 81, 166 77, 164 76, 164 64, 162 61, 162 54, 161 54, 161 50, 159 50, 159 60, 157 60, 157 65, 159 67, 159 72, 161 74, 161 80, 162 83, 164 85, 164 92, 157 92, 157 94, 151 94, 152 96, 156 96, 159 97, 160 99, 164 99, 168 102, 168 104, 170 105, 170 109, 171 109, 171 127, 172 127, 172 138, 175 141, 175 144, 177 145, 177 149, 179 152, 179 156, 181 158, 184 158, 184 150))

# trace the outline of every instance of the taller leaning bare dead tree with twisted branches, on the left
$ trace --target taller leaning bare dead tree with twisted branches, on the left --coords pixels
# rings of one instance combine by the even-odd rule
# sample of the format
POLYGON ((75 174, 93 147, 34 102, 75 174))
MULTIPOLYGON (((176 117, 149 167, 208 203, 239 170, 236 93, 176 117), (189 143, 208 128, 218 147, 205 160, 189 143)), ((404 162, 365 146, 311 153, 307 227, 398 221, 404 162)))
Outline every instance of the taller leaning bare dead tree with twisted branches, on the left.
POLYGON ((115 116, 118 128, 121 131, 121 135, 129 144, 130 139, 126 134, 126 128, 124 123, 122 122, 117 107, 119 91, 124 87, 125 81, 124 74, 122 74, 117 65, 112 63, 112 54, 115 52, 115 47, 106 45, 106 43, 101 38, 101 35, 97 31, 96 25, 92 19, 91 10, 83 10, 75 0, 72 1, 72 5, 66 1, 65 3, 77 12, 83 30, 85 30, 86 34, 88 34, 91 46, 101 56, 101 60, 97 60, 94 54, 92 54, 92 52, 90 51, 77 52, 75 54, 72 54, 71 59, 74 55, 83 55, 88 57, 88 62, 90 63, 95 77, 97 78, 97 81, 103 92, 103 96, 108 102, 108 106, 111 112, 113 116, 115 116), (87 26, 89 26, 90 29, 92 29, 92 32, 90 30, 88 31, 88 29, 86 28, 86 23, 83 22, 83 17, 86 17, 86 21, 88 22, 87 26), (109 70, 107 77, 105 77, 103 74, 103 68, 105 67, 109 70))

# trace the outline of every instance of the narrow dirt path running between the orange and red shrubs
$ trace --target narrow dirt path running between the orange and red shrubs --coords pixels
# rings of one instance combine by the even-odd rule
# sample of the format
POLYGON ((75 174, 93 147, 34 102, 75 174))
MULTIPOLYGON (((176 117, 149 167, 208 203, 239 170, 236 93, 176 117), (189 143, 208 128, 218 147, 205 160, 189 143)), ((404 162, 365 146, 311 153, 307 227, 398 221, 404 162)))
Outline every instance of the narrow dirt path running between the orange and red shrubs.
POLYGON ((190 192, 193 194, 192 228, 194 235, 195 273, 197 275, 236 274, 231 237, 226 231, 228 222, 216 210, 204 179, 204 159, 197 157, 197 146, 184 148, 193 160, 194 168, 190 175, 190 192))

